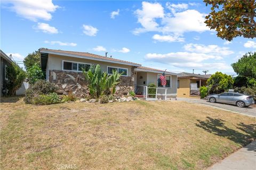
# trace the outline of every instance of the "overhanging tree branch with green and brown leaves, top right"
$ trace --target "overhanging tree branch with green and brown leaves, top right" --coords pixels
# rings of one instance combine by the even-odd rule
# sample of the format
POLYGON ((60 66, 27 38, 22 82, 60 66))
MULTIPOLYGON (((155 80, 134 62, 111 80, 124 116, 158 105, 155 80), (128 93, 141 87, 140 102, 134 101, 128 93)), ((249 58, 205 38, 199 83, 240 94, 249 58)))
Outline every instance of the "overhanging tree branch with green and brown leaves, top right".
POLYGON ((256 3, 255 1, 204 0, 212 5, 211 12, 205 17, 206 25, 215 29, 217 36, 231 41, 237 36, 256 37, 256 3))

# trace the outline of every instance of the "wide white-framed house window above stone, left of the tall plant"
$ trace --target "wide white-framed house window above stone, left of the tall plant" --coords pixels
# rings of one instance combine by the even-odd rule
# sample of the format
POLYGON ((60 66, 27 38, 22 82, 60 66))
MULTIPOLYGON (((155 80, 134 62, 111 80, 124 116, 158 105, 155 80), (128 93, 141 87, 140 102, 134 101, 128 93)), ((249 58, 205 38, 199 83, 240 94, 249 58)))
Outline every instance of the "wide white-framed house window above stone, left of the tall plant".
POLYGON ((62 70, 82 72, 83 69, 85 69, 85 71, 88 71, 90 69, 90 67, 91 67, 91 64, 87 64, 87 63, 63 61, 62 70))

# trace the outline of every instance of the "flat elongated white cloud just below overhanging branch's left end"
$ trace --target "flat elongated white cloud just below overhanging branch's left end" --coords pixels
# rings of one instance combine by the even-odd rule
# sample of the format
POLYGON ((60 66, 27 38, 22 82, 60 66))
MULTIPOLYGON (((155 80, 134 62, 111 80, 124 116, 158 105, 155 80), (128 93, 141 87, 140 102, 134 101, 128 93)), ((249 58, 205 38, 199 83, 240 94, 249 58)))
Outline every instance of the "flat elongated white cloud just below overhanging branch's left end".
POLYGON ((228 47, 219 47, 218 45, 203 45, 203 44, 186 44, 184 46, 186 51, 196 53, 208 53, 214 55, 230 55, 234 52, 228 47))

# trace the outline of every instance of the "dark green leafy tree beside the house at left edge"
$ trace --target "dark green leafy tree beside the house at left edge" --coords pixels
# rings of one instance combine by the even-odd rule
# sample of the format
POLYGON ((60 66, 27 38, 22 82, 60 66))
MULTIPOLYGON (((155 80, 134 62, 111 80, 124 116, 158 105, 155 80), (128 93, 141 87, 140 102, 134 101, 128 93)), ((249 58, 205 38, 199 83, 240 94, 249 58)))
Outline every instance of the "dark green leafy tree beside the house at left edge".
POLYGON ((8 93, 9 95, 15 95, 15 92, 21 87, 23 80, 26 78, 26 72, 15 63, 7 65, 6 71, 8 93))

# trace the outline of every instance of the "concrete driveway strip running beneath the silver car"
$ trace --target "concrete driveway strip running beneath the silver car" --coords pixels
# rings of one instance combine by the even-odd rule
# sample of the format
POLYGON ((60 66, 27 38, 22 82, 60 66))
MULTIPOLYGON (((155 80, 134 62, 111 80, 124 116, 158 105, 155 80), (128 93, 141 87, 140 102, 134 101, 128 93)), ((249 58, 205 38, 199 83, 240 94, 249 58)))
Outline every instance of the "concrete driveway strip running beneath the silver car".
POLYGON ((205 104, 207 106, 233 111, 238 114, 256 117, 256 108, 252 107, 252 106, 245 107, 245 108, 239 108, 239 107, 231 105, 231 104, 211 103, 211 102, 207 102, 206 100, 203 100, 203 99, 177 98, 177 100, 205 104))

